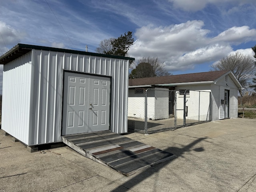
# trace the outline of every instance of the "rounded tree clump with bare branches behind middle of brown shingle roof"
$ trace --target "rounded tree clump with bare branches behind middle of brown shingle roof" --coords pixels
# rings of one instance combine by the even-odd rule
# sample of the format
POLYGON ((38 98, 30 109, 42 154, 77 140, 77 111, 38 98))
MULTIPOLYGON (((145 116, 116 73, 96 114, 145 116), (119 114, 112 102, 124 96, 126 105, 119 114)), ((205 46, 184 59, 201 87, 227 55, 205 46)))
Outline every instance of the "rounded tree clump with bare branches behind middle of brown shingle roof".
POLYGON ((130 78, 172 75, 164 69, 164 63, 161 63, 157 57, 142 57, 136 63, 130 78))

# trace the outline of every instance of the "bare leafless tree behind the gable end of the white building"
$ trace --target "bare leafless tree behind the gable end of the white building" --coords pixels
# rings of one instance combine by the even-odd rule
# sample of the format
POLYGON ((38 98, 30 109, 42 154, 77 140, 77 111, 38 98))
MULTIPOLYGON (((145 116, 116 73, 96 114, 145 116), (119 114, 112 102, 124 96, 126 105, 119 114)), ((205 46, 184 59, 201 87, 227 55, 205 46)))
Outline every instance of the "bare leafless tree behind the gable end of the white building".
POLYGON ((211 67, 212 71, 232 70, 244 88, 248 87, 256 72, 254 59, 250 55, 244 55, 240 52, 222 58, 211 67))

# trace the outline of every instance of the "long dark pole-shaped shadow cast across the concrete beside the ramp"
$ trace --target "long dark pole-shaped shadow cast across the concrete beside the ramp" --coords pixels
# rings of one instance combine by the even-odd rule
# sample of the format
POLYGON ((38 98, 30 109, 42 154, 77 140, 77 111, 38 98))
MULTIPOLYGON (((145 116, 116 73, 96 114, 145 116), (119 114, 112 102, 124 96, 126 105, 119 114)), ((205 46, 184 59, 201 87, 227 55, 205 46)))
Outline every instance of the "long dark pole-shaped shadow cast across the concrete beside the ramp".
MULTIPOLYGON (((184 146, 182 148, 169 147, 169 148, 166 148, 164 151, 175 154, 178 157, 183 157, 182 155, 185 152, 189 152, 189 151, 192 151, 192 150, 194 150, 196 152, 203 152, 204 151, 203 147, 195 148, 195 149, 192 149, 192 148, 193 148, 194 145, 198 144, 199 142, 202 142, 203 140, 205 140, 207 138, 208 137, 198 138, 198 139, 194 140, 193 142, 191 142, 190 144, 188 144, 187 146, 184 146)), ((170 160, 170 161, 172 161, 172 160, 170 160)), ((111 192, 126 192, 126 191, 130 190, 132 187, 136 186, 137 184, 139 184, 140 182, 142 182, 146 178, 150 177, 151 175, 155 174, 156 172, 158 172, 159 170, 164 168, 167 164, 170 163, 170 161, 163 162, 161 164, 158 164, 158 165, 154 166, 154 168, 149 168, 149 169, 146 169, 146 170, 140 172, 135 177, 131 178, 130 180, 128 180, 127 182, 125 182, 121 186, 118 186, 117 188, 115 188, 111 192)))

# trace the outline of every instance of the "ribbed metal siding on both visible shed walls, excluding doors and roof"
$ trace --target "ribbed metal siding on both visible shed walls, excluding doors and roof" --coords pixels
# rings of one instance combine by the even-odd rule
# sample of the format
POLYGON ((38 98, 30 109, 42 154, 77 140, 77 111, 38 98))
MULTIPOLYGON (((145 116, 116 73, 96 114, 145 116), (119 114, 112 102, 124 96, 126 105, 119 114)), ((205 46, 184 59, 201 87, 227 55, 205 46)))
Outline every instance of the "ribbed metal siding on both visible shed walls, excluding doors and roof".
POLYGON ((4 65, 2 128, 29 146, 61 142, 63 70, 71 70, 112 76, 110 128, 125 133, 128 67, 123 58, 32 49, 4 65))

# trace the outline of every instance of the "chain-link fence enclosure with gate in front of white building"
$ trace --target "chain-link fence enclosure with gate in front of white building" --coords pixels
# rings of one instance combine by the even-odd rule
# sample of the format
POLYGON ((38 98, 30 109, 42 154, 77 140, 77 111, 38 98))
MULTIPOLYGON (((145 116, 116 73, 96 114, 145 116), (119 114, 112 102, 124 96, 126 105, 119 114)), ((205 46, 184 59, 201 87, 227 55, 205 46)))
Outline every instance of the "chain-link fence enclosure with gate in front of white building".
POLYGON ((210 92, 130 89, 128 132, 146 134, 210 121, 210 92))

